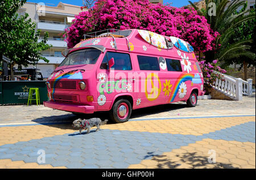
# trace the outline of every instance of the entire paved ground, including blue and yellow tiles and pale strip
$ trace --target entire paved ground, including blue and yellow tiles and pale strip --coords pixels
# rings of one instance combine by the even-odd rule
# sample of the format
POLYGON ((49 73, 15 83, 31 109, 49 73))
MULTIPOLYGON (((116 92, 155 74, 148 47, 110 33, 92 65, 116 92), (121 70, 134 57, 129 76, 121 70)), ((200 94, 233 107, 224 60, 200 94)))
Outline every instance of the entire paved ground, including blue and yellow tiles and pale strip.
POLYGON ((128 122, 81 135, 72 113, 43 105, 0 111, 0 168, 255 169, 255 93, 243 101, 199 100, 195 108, 138 109, 128 122), (38 161, 40 152, 46 161, 38 161))

